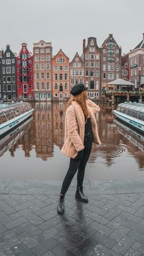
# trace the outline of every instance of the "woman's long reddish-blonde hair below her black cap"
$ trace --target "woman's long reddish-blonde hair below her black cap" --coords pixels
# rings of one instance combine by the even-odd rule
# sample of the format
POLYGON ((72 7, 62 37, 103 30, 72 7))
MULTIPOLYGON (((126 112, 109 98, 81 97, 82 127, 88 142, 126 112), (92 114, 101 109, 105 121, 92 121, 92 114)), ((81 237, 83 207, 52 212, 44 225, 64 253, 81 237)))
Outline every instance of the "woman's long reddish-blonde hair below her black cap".
POLYGON ((72 101, 76 101, 81 106, 81 109, 84 113, 84 117, 85 117, 85 120, 86 120, 87 117, 90 116, 90 114, 88 112, 86 100, 87 100, 87 92, 85 90, 83 90, 78 95, 74 95, 70 98, 70 100, 68 101, 67 107, 70 106, 72 101))

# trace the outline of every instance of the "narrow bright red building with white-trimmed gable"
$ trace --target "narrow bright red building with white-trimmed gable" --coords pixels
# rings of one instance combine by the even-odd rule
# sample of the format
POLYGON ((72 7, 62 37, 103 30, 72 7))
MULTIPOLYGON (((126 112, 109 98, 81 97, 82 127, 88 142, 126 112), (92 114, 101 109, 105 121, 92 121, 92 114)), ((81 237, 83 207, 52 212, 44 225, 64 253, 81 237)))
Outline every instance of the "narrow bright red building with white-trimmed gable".
POLYGON ((17 95, 18 99, 32 100, 34 97, 33 57, 27 49, 27 43, 22 43, 21 46, 20 54, 16 58, 17 95))

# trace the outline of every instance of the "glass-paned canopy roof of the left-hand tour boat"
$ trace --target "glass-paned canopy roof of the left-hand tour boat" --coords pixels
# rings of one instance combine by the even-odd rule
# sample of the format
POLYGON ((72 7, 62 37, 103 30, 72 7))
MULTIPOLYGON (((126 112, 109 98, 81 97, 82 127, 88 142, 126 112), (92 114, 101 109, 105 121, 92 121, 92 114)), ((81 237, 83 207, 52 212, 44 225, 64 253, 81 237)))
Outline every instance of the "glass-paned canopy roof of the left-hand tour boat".
POLYGON ((14 104, 2 104, 0 108, 0 124, 9 121, 17 117, 18 115, 24 114, 25 112, 31 110, 31 104, 24 103, 14 103, 14 104))

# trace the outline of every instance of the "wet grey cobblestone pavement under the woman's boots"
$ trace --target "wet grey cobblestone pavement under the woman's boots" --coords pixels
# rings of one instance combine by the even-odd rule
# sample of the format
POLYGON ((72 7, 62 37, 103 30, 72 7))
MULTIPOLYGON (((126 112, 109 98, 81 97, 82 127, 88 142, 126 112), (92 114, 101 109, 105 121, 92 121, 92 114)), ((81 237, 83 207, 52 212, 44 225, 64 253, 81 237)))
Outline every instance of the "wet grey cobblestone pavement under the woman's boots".
POLYGON ((143 181, 76 181, 57 214, 62 181, 0 181, 0 256, 144 255, 143 181))

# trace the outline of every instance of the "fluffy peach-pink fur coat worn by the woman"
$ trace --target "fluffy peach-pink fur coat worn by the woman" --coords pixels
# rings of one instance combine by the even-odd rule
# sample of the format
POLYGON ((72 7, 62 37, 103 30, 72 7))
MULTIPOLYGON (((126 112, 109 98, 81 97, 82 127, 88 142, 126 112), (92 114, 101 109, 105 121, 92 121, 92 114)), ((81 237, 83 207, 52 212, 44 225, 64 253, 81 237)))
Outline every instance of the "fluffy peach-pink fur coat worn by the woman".
MULTIPOLYGON (((91 117, 93 142, 101 145, 94 114, 99 112, 100 108, 91 100, 87 100, 87 107, 91 117)), ((63 154, 75 158, 77 152, 84 149, 84 129, 83 111, 76 101, 72 101, 65 114, 65 142, 61 150, 63 154)))

